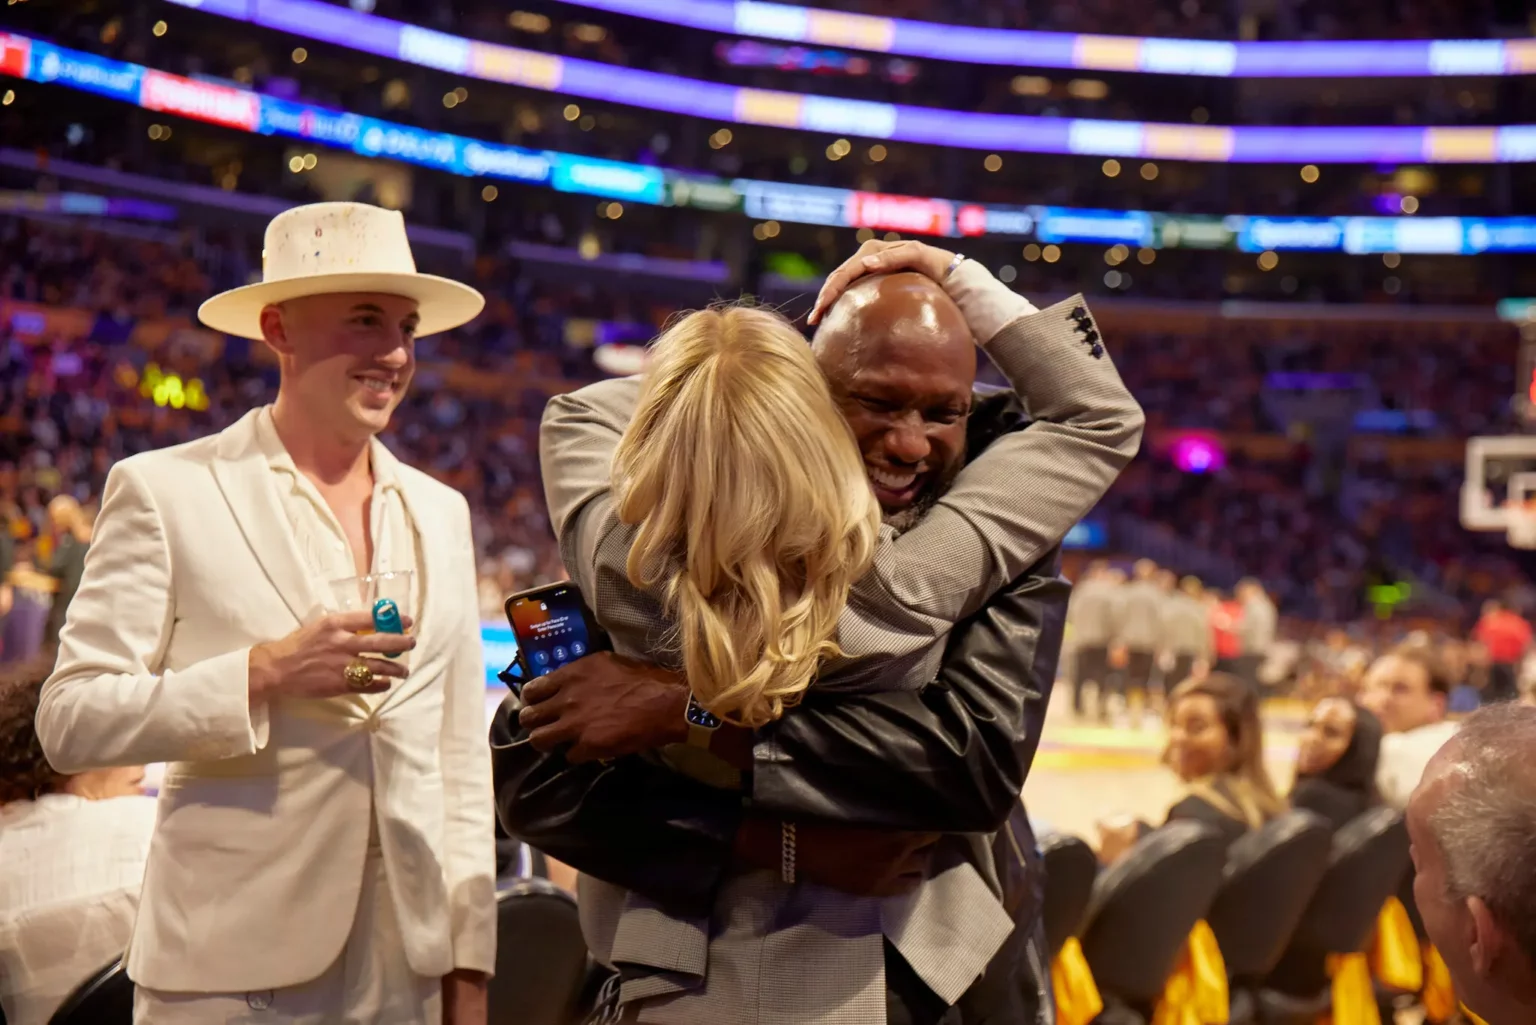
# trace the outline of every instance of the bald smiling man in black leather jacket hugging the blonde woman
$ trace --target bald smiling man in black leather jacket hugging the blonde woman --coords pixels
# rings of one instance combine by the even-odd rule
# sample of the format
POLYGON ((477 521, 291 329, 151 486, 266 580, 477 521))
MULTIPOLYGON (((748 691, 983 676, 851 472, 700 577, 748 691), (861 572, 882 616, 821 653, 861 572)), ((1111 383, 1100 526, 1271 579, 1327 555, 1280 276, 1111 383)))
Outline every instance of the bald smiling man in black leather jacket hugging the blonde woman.
MULTIPOLYGON (((1012 396, 972 395, 974 340, 1014 323, 1021 300, 978 267, 949 278, 954 257, 922 249, 928 255, 914 263, 926 277, 892 274, 856 284, 816 338, 886 522, 897 530, 912 527, 945 493, 968 450, 980 453, 1028 423, 1012 396)), ((1074 357, 1100 358, 1097 329, 1078 303, 1037 317, 1052 324, 1060 318, 1072 332, 1069 346, 1081 337, 1074 357)), ((1140 423, 1138 410, 1114 410, 1107 420, 1121 415, 1140 423)), ((1055 526, 1058 538, 1071 522, 1055 526)), ((909 964, 888 945, 886 1008, 879 1020, 980 1025, 1029 1022, 1037 1014, 1051 1020, 1049 999, 1040 997, 1046 977, 1040 951, 1025 944, 1040 874, 1018 793, 1055 672, 1066 596, 1052 552, 952 630, 943 670, 923 690, 813 692, 780 722, 756 735, 739 731, 745 736, 737 765, 750 771, 746 796, 756 813, 746 811, 739 793, 711 791, 641 759, 591 765, 588 759, 674 742, 687 684, 676 673, 616 656, 573 662, 524 692, 528 707, 541 710, 536 728, 527 710, 519 724, 511 701, 496 716, 493 765, 504 824, 584 873, 644 894, 668 916, 703 921, 733 865, 779 864, 780 818, 799 824, 799 877, 845 893, 900 891, 902 877, 929 859, 969 861, 997 881, 1005 908, 1025 928, 1014 930, 955 1008, 948 1007, 955 996, 940 999, 925 982, 942 971, 938 965, 909 964), (562 753, 539 756, 541 748, 562 753), (934 845, 932 833, 954 834, 954 842, 946 836, 934 845), (958 836, 965 833, 991 834, 992 844, 968 847, 958 836)), ((717 736, 727 733, 728 727, 717 736)), ((716 745, 711 751, 723 755, 716 745)), ((958 959, 966 951, 948 953, 958 959)), ((637 970, 639 985, 648 985, 647 968, 637 970)), ((674 980, 688 971, 679 965, 674 980)), ((630 985, 636 977, 625 979, 630 985)), ((639 1020, 651 1019, 642 1011, 639 1020)))

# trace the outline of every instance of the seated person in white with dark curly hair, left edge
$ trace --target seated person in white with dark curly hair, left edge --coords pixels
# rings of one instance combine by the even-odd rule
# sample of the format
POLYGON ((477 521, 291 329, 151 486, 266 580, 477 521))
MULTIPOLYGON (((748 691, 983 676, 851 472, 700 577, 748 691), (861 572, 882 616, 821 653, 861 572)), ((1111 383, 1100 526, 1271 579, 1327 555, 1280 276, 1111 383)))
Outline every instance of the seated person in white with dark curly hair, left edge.
POLYGON ((138 908, 155 802, 143 767, 65 776, 34 721, 49 665, 0 672, 0 1008, 45 1025, 123 953, 138 908))

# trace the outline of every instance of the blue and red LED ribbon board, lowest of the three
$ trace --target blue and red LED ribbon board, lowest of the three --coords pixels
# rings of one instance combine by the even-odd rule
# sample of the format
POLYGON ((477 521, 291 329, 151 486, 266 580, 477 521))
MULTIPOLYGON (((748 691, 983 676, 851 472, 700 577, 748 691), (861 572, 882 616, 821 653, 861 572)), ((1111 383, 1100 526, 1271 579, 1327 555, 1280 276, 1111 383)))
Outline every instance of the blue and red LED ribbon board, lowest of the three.
POLYGON ((498 178, 628 203, 743 212, 759 220, 912 235, 1000 237, 1152 249, 1353 254, 1536 252, 1531 217, 1186 217, 1146 211, 998 206, 711 175, 524 149, 280 100, 0 32, 0 75, 95 92, 198 121, 301 138, 464 177, 498 178))

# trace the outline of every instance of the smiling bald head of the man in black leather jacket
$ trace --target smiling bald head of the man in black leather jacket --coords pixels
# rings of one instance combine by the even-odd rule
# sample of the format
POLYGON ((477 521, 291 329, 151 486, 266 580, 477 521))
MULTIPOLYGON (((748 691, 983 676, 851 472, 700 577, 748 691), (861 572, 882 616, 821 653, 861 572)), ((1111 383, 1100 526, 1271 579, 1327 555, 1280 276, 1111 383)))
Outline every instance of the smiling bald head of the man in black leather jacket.
POLYGON ((920 274, 863 278, 813 343, 848 418, 886 522, 917 522, 965 464, 975 343, 945 290, 920 274))

